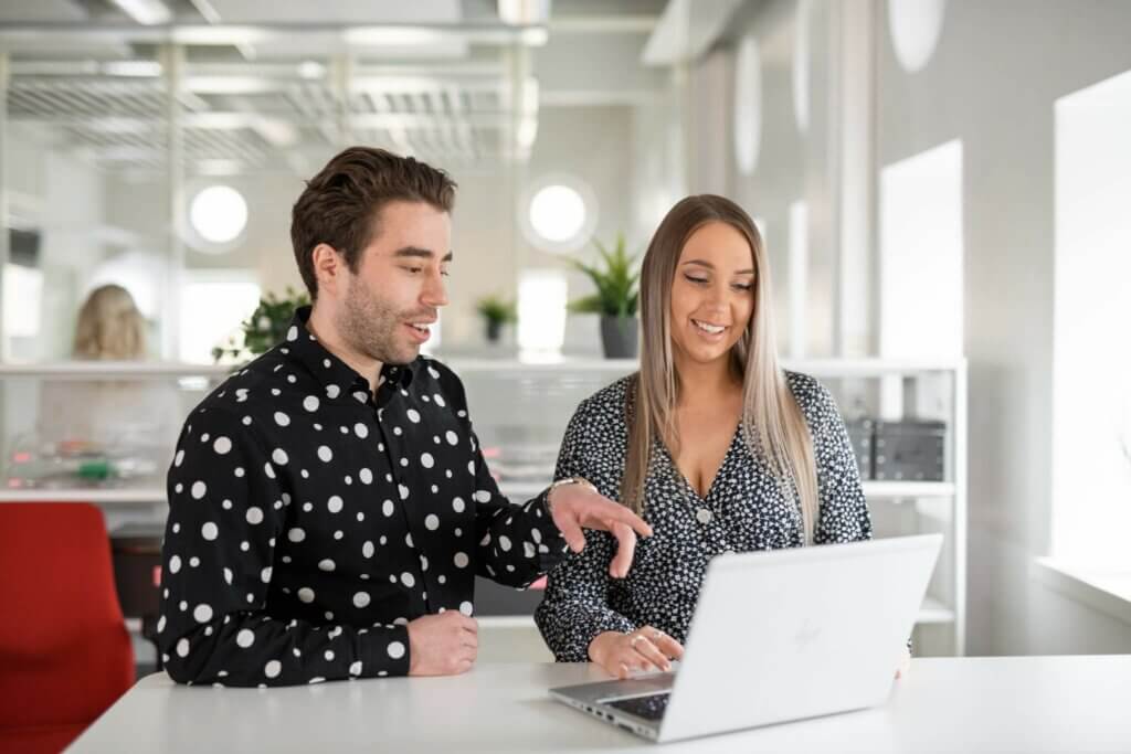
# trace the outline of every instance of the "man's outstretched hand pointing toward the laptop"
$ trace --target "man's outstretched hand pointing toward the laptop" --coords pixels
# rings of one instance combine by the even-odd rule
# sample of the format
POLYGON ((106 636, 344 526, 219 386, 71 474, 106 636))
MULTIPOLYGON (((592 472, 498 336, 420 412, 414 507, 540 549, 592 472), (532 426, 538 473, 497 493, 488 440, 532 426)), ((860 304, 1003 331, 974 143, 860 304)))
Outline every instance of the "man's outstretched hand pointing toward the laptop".
POLYGON ((581 529, 610 531, 616 537, 616 555, 608 564, 608 575, 614 579, 628 575, 632 554, 636 552, 637 535, 651 536, 651 527, 644 519, 584 484, 554 487, 550 491, 549 502, 554 525, 575 553, 585 548, 585 534, 581 529))

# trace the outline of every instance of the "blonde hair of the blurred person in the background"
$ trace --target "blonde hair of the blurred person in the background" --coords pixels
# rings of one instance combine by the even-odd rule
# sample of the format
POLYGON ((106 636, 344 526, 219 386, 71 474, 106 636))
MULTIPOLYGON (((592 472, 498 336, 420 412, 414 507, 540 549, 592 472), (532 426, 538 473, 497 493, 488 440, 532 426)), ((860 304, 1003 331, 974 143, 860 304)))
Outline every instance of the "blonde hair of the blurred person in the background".
POLYGON ((78 312, 75 358, 132 361, 145 350, 145 319, 130 292, 120 285, 92 291, 78 312))

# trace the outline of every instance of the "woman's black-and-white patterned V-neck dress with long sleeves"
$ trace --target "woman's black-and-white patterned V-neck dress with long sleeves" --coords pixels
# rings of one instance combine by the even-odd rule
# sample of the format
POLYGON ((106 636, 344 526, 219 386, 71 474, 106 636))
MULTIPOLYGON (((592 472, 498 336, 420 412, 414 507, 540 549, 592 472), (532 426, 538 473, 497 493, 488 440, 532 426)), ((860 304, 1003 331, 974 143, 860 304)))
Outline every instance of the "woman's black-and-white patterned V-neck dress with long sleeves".
MULTIPOLYGON (((820 514, 817 544, 871 538, 871 519, 848 433, 829 391, 793 372, 787 382, 813 437, 820 514)), ((624 397, 630 378, 585 400, 566 431, 556 476, 580 475, 616 500, 628 447, 624 397)), ((736 419, 737 421, 737 419, 736 419)), ((663 443, 653 444, 644 518, 654 535, 637 544, 629 575, 608 577, 614 539, 587 531, 586 548, 550 573, 535 621, 561 662, 584 662, 605 631, 653 625, 687 641, 707 563, 727 552, 797 547, 801 511, 783 494, 765 461, 736 432, 706 499, 684 479, 663 443)))

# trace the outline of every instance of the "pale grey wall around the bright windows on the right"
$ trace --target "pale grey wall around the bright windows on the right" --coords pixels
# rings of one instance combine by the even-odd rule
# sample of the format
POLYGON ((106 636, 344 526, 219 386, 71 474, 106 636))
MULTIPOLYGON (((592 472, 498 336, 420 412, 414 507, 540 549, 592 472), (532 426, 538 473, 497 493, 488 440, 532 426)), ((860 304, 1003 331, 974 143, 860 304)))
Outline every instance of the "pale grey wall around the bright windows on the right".
POLYGON ((1053 102, 1131 69, 1131 6, 952 1, 917 73, 878 21, 878 167, 965 153, 969 651, 1129 651, 1131 626, 1034 584, 1028 562, 1051 514, 1053 102))

